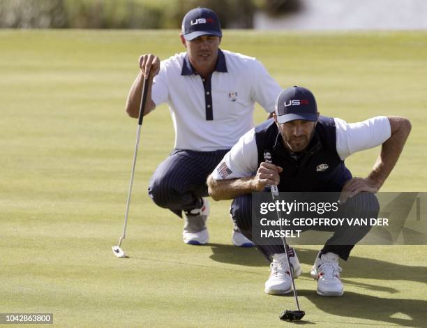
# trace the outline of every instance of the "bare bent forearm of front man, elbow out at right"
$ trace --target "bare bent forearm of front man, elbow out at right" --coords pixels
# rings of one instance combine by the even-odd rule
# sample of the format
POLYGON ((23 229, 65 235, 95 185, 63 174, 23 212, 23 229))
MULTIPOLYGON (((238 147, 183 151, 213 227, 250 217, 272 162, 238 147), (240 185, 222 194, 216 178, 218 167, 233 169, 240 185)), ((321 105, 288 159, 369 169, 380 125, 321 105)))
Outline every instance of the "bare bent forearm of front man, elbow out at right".
POLYGON ((391 126, 391 136, 382 144, 380 156, 370 172, 368 179, 380 188, 389 177, 391 170, 396 165, 407 136, 411 131, 410 121, 401 117, 389 117, 391 126))

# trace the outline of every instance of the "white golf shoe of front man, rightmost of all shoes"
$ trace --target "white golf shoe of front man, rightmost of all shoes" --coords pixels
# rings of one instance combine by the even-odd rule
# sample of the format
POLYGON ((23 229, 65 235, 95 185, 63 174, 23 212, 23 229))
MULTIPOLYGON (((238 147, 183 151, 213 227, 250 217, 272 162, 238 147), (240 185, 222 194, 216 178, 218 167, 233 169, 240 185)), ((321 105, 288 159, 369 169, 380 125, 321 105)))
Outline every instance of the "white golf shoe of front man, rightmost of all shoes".
POLYGON ((317 294, 322 296, 337 297, 344 294, 344 285, 340 279, 338 255, 335 253, 322 254, 316 258, 310 275, 317 280, 317 294))

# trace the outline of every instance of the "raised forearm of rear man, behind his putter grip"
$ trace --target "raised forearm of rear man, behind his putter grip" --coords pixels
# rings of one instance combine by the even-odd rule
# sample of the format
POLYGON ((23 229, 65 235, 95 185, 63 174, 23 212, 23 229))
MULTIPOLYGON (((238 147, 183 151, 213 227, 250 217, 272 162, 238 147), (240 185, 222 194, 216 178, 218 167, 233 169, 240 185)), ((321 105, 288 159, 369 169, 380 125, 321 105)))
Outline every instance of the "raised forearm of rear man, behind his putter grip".
MULTIPOLYGON (((132 84, 132 87, 130 87, 130 91, 128 94, 128 99, 126 100, 126 112, 130 117, 137 118, 140 114, 140 105, 141 105, 141 96, 142 96, 142 72, 137 75, 135 81, 132 84)), ((148 92, 147 92, 147 103, 145 105, 144 110, 144 116, 147 115, 151 110, 156 107, 156 105, 153 103, 153 100, 151 100, 151 86, 153 84, 153 78, 151 77, 148 80, 148 92)))

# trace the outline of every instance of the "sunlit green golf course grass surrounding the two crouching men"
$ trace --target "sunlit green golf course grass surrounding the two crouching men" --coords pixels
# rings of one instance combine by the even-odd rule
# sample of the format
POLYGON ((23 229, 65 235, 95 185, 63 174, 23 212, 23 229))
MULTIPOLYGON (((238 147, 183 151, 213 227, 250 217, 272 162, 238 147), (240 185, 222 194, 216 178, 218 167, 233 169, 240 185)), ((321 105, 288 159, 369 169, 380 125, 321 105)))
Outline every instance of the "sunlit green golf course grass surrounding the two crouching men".
MULTIPOLYGON (((124 105, 140 54, 183 51, 179 31, 0 31, 0 312, 53 313, 58 327, 285 327, 292 294, 264 294, 268 263, 231 246, 229 201, 213 202, 207 246, 147 195, 172 150, 166 105, 144 119, 128 232, 116 258, 137 122, 124 105)), ((283 86, 311 89, 346 121, 401 115, 412 133, 381 191, 426 191, 427 32, 224 31, 223 49, 257 57, 283 86)), ((257 106, 255 121, 266 117, 257 106)), ((354 176, 379 148, 354 154, 354 176)), ((298 246, 304 322, 426 326, 427 246, 357 246, 345 295, 317 296, 320 246, 298 246)))

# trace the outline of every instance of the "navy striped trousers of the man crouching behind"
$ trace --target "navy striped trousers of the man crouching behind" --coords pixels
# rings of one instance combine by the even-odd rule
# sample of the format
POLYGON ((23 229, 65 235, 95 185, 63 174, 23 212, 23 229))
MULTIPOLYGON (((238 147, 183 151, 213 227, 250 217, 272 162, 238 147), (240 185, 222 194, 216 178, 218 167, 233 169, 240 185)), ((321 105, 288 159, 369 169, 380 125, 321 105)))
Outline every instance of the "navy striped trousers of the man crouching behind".
POLYGON ((229 150, 174 149, 151 177, 151 199, 178 216, 182 216, 183 210, 201 207, 201 197, 208 195, 207 177, 229 150))

